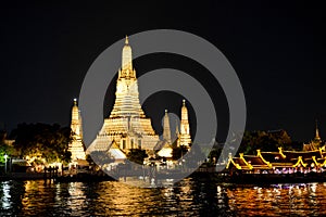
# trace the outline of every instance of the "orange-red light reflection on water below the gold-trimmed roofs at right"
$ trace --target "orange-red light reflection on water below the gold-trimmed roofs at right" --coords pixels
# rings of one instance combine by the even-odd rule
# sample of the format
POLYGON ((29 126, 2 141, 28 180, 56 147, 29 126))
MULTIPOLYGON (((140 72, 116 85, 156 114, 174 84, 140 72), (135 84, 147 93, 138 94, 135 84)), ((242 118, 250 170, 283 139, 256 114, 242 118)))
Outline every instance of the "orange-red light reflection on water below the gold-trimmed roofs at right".
POLYGON ((326 186, 323 183, 237 187, 227 192, 231 210, 241 215, 326 215, 326 186))

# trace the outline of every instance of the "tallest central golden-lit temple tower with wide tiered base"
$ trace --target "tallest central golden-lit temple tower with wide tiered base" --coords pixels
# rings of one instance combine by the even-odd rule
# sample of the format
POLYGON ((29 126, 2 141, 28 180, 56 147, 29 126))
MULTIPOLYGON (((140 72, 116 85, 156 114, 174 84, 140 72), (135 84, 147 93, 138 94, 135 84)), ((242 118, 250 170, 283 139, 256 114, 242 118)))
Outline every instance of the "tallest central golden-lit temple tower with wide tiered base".
POLYGON ((113 142, 123 151, 153 150, 159 142, 151 119, 146 117, 139 102, 138 81, 127 37, 122 52, 113 110, 109 118, 104 119, 102 129, 88 152, 106 151, 113 142))

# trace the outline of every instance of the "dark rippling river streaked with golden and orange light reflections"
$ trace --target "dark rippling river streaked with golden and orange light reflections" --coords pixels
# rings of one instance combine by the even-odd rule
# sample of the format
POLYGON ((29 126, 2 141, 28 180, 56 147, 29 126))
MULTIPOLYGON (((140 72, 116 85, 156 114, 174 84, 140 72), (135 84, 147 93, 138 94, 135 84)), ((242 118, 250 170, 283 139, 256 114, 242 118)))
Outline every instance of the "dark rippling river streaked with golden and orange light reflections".
POLYGON ((326 183, 231 186, 187 178, 171 188, 116 181, 0 182, 1 216, 326 216, 326 183))

